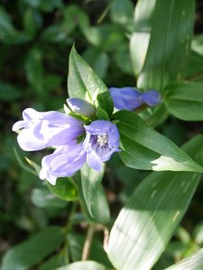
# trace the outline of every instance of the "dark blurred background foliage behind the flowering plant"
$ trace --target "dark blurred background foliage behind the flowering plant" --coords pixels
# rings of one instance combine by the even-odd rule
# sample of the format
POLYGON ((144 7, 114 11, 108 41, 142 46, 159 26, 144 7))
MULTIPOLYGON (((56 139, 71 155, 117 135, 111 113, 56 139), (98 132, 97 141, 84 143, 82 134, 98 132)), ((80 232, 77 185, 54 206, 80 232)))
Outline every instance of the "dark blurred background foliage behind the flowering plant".
MULTIPOLYGON (((79 53, 106 85, 134 86, 129 40, 134 31, 135 4, 130 0, 0 2, 0 257, 10 247, 42 230, 44 241, 35 240, 36 245, 43 249, 43 256, 31 259, 32 263, 27 267, 36 265, 34 269, 52 269, 69 260, 80 259, 87 229, 84 216, 78 205, 57 198, 32 173, 11 128, 14 121, 22 117, 24 108, 40 111, 62 108, 68 97, 68 57, 74 42, 79 53), (17 151, 14 152, 14 148, 17 151), (71 215, 74 207, 75 213, 71 215), (55 227, 51 232, 44 229, 48 225, 61 225, 69 230, 69 223, 74 226, 68 235, 68 251, 67 242, 61 238, 64 232, 60 233, 60 229, 55 227), (49 238, 54 229, 57 231, 56 245, 51 246, 50 243, 50 249, 46 250, 46 237, 49 238)), ((199 55, 203 56, 202 31, 203 4, 199 0, 191 56, 193 63, 196 59, 199 70, 197 80, 203 77, 203 58, 199 58, 199 55)), ((170 117, 158 130, 181 145, 202 128, 198 122, 183 122, 170 117)), ((38 164, 41 155, 26 153, 26 157, 32 157, 38 164)), ((147 174, 127 168, 116 155, 111 159, 104 186, 113 217, 147 174)), ((73 198, 77 197, 74 184, 69 187, 71 192, 73 198)), ((155 268, 169 266, 203 247, 202 192, 201 184, 180 228, 155 268)), ((98 233, 90 257, 110 266, 101 239, 102 235, 98 233)), ((26 250, 27 247, 24 248, 26 250)))

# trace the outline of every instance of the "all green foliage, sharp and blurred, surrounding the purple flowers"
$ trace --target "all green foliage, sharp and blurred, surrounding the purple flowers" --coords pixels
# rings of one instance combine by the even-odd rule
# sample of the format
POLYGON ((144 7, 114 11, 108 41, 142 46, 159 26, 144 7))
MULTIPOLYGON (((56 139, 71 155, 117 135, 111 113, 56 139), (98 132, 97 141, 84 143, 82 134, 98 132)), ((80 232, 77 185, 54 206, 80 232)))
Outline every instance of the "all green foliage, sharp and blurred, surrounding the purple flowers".
MULTIPOLYGON (((194 26, 203 31, 203 19, 196 2, 195 11, 193 0, 2 1, 2 270, 131 270, 132 262, 134 269, 160 270, 203 247, 203 186, 196 173, 203 165, 202 136, 191 139, 203 131, 198 122, 203 120, 203 35, 192 34, 194 26), (38 164, 50 150, 21 151, 11 129, 24 108, 61 110, 69 97, 68 72, 69 96, 94 103, 97 119, 115 121, 123 151, 100 174, 84 166, 73 178, 51 185, 38 177, 38 164), (126 85, 161 91, 161 104, 139 115, 113 114, 108 87, 126 85), (191 139, 189 155, 170 139, 179 146, 191 139), (149 175, 143 169, 196 172, 149 175), (188 184, 185 193, 180 182, 188 184), (80 262, 89 223, 94 228, 89 261, 80 262)), ((201 250, 169 269, 191 265, 203 267, 201 250)))

